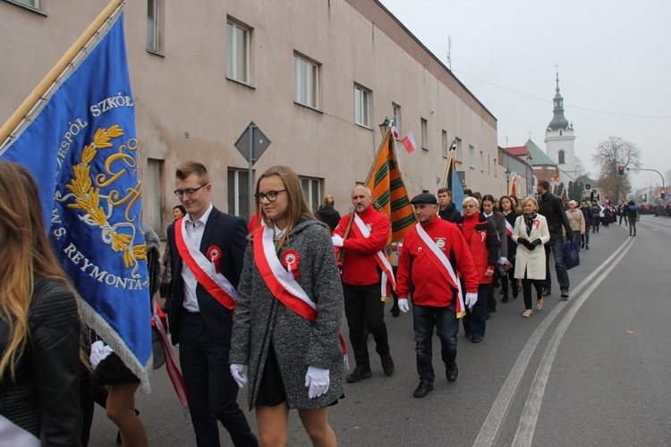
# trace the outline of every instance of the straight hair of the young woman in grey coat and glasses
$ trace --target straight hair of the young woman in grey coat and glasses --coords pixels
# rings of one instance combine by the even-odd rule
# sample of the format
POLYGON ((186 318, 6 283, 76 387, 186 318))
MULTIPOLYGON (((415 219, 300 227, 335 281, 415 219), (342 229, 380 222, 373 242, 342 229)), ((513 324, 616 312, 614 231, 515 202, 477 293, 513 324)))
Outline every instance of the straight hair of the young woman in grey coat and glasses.
MULTIPOLYGON (((286 197, 288 198, 285 212, 287 217, 286 231, 277 243, 277 247, 279 248, 282 247, 286 238, 293 232, 293 227, 298 223, 302 216, 306 216, 313 220, 316 220, 316 218, 312 214, 308 201, 305 200, 305 195, 303 194, 301 187, 301 179, 298 178, 298 175, 289 166, 283 166, 282 164, 270 166, 265 173, 260 175, 259 180, 256 181, 256 194, 259 194, 259 184, 261 180, 267 177, 272 177, 273 175, 278 176, 284 183, 286 197)), ((256 202, 256 212, 260 212, 263 220, 267 224, 269 223, 265 213, 263 213, 263 208, 261 208, 259 201, 256 202)))

